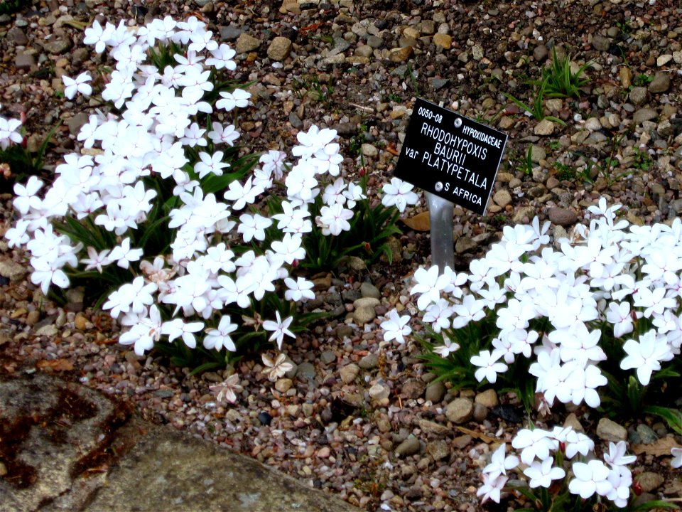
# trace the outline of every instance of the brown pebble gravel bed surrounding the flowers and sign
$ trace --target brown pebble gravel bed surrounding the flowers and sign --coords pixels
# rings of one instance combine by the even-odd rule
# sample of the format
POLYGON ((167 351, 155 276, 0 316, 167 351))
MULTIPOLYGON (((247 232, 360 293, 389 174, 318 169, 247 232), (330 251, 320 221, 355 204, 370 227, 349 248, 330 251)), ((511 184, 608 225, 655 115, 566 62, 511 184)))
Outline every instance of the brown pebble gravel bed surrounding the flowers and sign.
MULTIPOLYGON (((682 8, 674 0, 28 4, 0 15, 1 112, 26 115, 31 147, 62 122, 47 169, 77 149, 78 129, 103 107, 59 94, 61 75, 103 70, 99 55, 80 42, 80 23, 195 14, 237 48, 237 79, 255 82, 254 105, 239 119, 254 151, 288 151, 299 130, 333 127, 347 156, 345 173, 357 176, 362 166, 374 189, 391 176, 416 96, 507 132, 487 215, 455 208, 460 270, 499 239, 504 225, 538 215, 561 236, 601 196, 622 203, 635 224, 682 213, 682 8), (545 103, 546 113, 565 124, 538 122, 505 96, 532 101, 528 80, 540 76, 553 45, 578 65, 591 62, 579 100, 545 103)), ((8 192, 12 183, 2 179, 0 191, 8 192)), ((11 196, 0 198, 1 235, 12 211, 11 196)), ((27 281, 25 255, 2 241, 0 371, 58 372, 131 400, 148 420, 227 444, 368 511, 480 510, 478 474, 495 447, 491 440, 510 442, 521 425, 496 407, 519 403, 511 394, 458 393, 432 383, 415 343, 382 341, 381 315, 393 307, 416 311, 409 279, 428 262, 426 233, 401 228, 394 265, 315 276, 318 299, 309 307, 335 316, 286 347, 293 369, 274 383, 258 355, 200 376, 162 356, 139 358, 117 344, 117 324, 85 307, 77 293, 65 306, 43 297, 27 281), (354 303, 368 297, 379 304, 361 317, 354 303), (210 390, 232 372, 244 388, 234 405, 210 390)), ((583 407, 541 420, 563 424, 567 415, 596 437, 583 407)), ((626 426, 631 434, 637 427, 626 426)), ((667 433, 664 425, 650 426, 658 437, 667 433)), ((635 474, 661 476, 646 492, 681 496, 661 459, 640 460, 635 474)))

